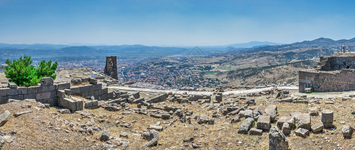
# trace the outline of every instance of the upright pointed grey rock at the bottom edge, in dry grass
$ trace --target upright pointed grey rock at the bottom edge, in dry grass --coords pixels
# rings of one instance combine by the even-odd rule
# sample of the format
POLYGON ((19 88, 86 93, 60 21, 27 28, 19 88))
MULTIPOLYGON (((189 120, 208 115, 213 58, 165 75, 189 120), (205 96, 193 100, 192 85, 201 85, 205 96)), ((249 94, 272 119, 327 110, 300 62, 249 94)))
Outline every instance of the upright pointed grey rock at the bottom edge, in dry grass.
POLYGON ((272 126, 269 132, 269 149, 288 149, 288 141, 277 126, 272 126))

